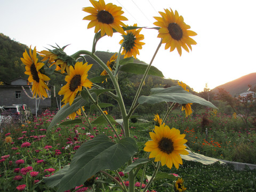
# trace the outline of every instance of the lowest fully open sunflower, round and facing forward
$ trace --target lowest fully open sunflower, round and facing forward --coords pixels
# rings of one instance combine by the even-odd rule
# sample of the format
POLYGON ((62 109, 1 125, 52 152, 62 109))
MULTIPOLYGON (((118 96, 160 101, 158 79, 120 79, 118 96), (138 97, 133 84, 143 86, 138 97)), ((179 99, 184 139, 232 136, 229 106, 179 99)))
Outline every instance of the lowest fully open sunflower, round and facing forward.
POLYGON ((182 164, 180 154, 188 155, 187 147, 184 145, 187 140, 185 134, 167 125, 155 126, 154 132, 149 132, 151 141, 145 143, 144 150, 151 152, 149 158, 155 157, 155 162, 161 161, 162 166, 166 164, 170 169, 172 165, 179 169, 182 164))

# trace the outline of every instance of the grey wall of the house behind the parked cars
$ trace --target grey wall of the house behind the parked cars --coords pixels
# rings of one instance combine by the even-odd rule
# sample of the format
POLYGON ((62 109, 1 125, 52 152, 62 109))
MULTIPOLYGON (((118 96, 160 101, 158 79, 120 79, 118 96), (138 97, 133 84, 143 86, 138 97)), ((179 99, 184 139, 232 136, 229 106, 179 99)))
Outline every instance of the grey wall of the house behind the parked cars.
MULTIPOLYGON (((18 82, 15 82, 15 84, 19 84, 18 82)), ((32 93, 29 89, 29 86, 24 85, 23 87, 25 89, 25 91, 27 92, 27 94, 32 97, 32 93)), ((49 91, 49 93, 51 93, 49 91)), ((36 102, 38 105, 39 102, 39 107, 38 110, 41 111, 45 108, 50 108, 51 107, 51 98, 46 98, 44 100, 42 99, 38 99, 36 101, 36 99, 30 99, 27 94, 23 91, 21 85, 1 85, 0 86, 0 106, 3 105, 12 105, 12 104, 26 104, 30 110, 32 114, 36 114, 36 102), (16 98, 16 91, 20 91, 20 98, 16 98)))

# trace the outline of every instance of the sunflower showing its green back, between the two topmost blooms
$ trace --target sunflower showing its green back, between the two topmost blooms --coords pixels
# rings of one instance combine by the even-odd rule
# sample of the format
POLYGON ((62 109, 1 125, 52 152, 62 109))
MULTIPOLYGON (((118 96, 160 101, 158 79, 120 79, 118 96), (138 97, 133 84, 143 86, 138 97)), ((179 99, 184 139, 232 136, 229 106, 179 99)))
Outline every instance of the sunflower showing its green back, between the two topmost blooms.
MULTIPOLYGON (((133 27, 137 27, 137 24, 134 24, 133 27)), ((144 35, 140 34, 142 28, 140 29, 132 29, 127 30, 123 36, 123 39, 119 42, 119 44, 123 45, 123 51, 122 54, 124 54, 124 58, 128 57, 134 57, 136 59, 136 55, 140 54, 139 49, 142 49, 142 45, 145 45, 145 43, 140 42, 144 39, 144 35)))

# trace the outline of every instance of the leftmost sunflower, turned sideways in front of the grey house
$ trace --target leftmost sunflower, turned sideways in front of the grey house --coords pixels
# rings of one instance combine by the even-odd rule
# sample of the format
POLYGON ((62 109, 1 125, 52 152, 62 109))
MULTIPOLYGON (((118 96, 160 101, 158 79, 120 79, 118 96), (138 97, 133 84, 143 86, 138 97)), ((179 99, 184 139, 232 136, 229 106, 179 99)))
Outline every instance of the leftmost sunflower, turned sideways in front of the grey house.
POLYGON ((34 48, 32 53, 30 46, 29 54, 27 53, 27 50, 25 50, 25 52, 23 53, 23 58, 20 59, 26 65, 25 74, 29 75, 28 81, 30 83, 33 83, 33 97, 34 95, 36 95, 36 97, 38 95, 40 98, 47 98, 48 95, 45 89, 49 90, 49 88, 45 84, 45 81, 50 81, 50 78, 39 71, 39 69, 41 69, 44 66, 44 63, 37 62, 38 59, 36 58, 36 47, 34 48))

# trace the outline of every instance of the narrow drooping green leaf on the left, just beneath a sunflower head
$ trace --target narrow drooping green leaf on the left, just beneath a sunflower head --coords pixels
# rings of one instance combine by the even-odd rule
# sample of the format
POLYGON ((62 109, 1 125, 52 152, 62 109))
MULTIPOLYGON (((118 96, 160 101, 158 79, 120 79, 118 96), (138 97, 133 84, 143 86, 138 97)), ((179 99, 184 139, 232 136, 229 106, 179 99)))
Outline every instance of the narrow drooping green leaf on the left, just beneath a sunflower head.
POLYGON ((47 131, 49 131, 54 125, 65 119, 71 113, 75 112, 79 107, 85 106, 86 103, 88 103, 86 100, 84 100, 81 96, 78 96, 71 106, 69 103, 67 103, 66 106, 61 107, 58 113, 53 117, 50 125, 47 128, 47 131))

